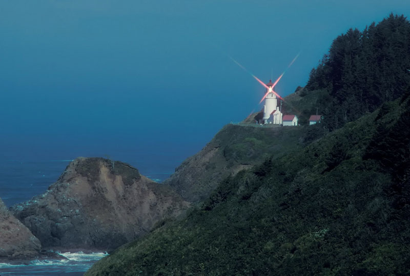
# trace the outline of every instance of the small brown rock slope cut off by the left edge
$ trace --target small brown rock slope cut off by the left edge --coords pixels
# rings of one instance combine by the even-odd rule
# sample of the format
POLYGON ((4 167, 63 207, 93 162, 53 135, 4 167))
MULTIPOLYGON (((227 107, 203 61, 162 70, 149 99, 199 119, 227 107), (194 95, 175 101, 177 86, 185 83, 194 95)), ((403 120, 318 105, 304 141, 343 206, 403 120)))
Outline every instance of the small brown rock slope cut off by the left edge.
POLYGON ((0 258, 36 257, 41 247, 40 241, 0 199, 0 258))

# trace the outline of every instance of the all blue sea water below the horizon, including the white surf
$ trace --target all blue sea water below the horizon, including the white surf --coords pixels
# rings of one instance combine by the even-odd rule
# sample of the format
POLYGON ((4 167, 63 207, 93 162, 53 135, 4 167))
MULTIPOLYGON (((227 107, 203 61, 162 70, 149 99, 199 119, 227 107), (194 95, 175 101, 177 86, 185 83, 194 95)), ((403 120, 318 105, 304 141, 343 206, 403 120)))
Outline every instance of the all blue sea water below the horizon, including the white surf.
MULTIPOLYGON (((33 196, 44 193, 65 170, 71 159, 59 160, 0 160, 0 198, 10 207, 16 203, 30 200, 33 196)), ((147 160, 148 161, 148 160, 147 160)), ((179 162, 175 161, 175 162, 179 162)), ((153 166, 150 162, 128 162, 140 168, 141 174, 150 179, 162 182, 171 174, 171 166, 153 166), (134 164, 133 164, 134 163, 134 164), (151 165, 150 165, 151 164, 151 165), (142 169, 141 169, 142 167, 142 169), (158 170, 158 168, 160 168, 158 170)), ((10 265, 0 263, 0 276, 5 275, 65 275, 79 276, 89 269, 93 263, 103 258, 107 253, 95 252, 65 252, 61 253, 68 260, 34 261, 27 265, 10 265)))

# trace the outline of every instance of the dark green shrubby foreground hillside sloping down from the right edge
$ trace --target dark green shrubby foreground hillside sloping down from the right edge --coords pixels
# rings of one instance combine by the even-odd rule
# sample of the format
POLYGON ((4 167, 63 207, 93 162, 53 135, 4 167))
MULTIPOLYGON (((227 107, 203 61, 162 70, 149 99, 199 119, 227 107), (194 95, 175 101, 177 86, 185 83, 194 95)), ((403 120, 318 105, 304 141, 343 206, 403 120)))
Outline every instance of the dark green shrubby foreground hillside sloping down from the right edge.
POLYGON ((220 182, 85 275, 410 274, 410 101, 220 182))

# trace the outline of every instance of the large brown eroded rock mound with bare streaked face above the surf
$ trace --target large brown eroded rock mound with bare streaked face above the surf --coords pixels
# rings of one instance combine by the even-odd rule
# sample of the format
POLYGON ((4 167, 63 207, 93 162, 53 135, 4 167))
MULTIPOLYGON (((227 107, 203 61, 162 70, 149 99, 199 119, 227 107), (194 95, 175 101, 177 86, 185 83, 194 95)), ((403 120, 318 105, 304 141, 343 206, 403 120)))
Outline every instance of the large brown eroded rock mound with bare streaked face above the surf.
POLYGON ((11 211, 44 248, 111 250, 188 206, 126 163, 80 157, 46 193, 11 211))

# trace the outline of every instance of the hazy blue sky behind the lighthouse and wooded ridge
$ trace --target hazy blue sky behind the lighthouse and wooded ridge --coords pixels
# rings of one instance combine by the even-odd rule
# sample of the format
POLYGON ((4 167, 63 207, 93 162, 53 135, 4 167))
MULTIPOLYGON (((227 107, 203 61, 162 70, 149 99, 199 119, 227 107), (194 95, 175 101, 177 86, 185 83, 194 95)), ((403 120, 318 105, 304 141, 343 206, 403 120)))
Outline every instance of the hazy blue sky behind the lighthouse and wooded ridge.
POLYGON ((410 3, 0 0, 0 158, 173 168, 258 108, 263 87, 228 55, 268 82, 301 52, 284 96, 337 35, 390 12, 410 3))

